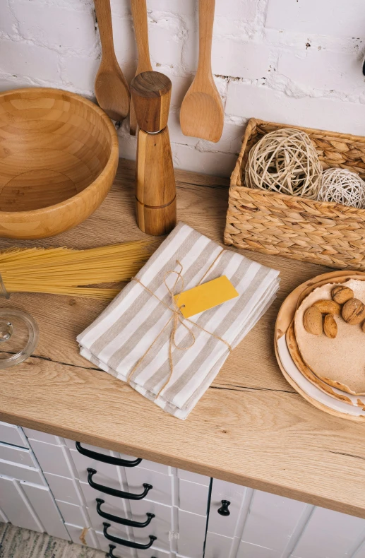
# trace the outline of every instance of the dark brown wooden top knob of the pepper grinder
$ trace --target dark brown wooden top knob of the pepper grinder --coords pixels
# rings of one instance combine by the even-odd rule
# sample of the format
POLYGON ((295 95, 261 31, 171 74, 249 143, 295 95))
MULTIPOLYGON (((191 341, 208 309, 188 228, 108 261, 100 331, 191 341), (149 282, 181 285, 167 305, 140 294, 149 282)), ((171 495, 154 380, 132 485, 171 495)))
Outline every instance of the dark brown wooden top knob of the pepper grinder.
POLYGON ((133 78, 131 95, 141 130, 157 133, 166 128, 171 88, 171 80, 157 71, 145 71, 133 78))

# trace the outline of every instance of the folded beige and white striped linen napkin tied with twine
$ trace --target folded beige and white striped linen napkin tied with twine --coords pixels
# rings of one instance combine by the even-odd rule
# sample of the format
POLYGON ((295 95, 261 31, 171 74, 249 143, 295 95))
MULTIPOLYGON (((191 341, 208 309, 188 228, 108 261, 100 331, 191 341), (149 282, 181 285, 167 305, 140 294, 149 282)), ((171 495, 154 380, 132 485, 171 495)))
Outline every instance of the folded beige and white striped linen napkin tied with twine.
POLYGON ((128 381, 163 410, 185 419, 217 376, 229 349, 238 345, 273 302, 278 275, 180 222, 136 280, 78 336, 80 354, 128 381), (182 289, 176 281, 179 272, 182 289), (180 319, 172 331, 171 292, 189 290, 221 275, 229 278, 239 297, 187 321, 180 319))

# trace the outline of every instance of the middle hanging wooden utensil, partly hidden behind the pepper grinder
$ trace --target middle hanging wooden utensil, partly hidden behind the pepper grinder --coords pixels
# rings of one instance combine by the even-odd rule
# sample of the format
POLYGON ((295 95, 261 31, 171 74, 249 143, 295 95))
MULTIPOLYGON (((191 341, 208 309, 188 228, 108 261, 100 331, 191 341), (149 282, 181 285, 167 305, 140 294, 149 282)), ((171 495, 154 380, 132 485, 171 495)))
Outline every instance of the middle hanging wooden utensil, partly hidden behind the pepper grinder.
MULTIPOLYGON (((136 76, 138 76, 138 73, 143 71, 152 71, 150 49, 148 47, 147 6, 145 0, 131 0, 131 8, 138 50, 138 66, 136 71, 136 76)), ((129 131, 132 136, 136 136, 137 119, 132 98, 129 121, 129 131)))

